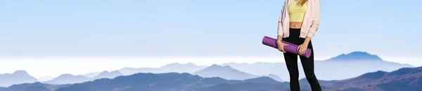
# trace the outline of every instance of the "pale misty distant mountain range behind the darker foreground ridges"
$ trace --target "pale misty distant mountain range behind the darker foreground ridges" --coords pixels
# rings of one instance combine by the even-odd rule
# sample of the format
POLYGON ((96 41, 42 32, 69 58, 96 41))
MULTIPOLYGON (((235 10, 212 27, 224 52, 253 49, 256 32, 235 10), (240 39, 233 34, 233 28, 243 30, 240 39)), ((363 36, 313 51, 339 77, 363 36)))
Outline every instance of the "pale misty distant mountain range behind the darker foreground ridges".
MULTIPOLYGON (((301 66, 301 65, 300 65, 301 66)), ((338 55, 331 59, 315 62, 316 76, 319 80, 343 80, 354 78, 369 71, 394 71, 403 67, 413 67, 409 64, 398 64, 387 62, 377 55, 368 52, 350 52, 338 55)), ((299 68, 301 78, 304 78, 302 67, 299 68)), ((204 78, 223 78, 225 80, 246 80, 250 78, 269 77, 283 82, 288 80, 288 71, 283 62, 269 63, 257 62, 254 64, 227 63, 213 64, 211 66, 198 66, 196 64, 172 63, 160 68, 123 68, 117 71, 103 71, 87 73, 85 75, 74 76, 63 74, 51 80, 41 81, 30 76, 26 71, 15 71, 15 73, 0 74, 0 90, 13 84, 41 83, 63 85, 73 83, 84 83, 102 78, 115 78, 117 76, 129 76, 136 73, 190 73, 204 78), (15 78, 16 77, 16 78, 15 78), (6 79, 6 81, 3 81, 6 79), (15 79, 15 80, 13 80, 15 79)), ((327 82, 327 81, 324 81, 327 82)), ((330 81, 331 82, 331 81, 330 81)))

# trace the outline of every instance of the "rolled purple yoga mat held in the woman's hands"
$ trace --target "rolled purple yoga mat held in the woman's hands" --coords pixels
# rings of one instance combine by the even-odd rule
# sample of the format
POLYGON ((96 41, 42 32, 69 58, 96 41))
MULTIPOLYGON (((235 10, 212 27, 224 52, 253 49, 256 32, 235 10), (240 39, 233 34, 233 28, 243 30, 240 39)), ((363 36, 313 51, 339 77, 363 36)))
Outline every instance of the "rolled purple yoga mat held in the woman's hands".
MULTIPOLYGON (((262 38, 262 44, 271 46, 272 48, 277 48, 276 41, 277 41, 276 38, 271 38, 271 37, 268 37, 268 36, 264 36, 264 38, 262 38)), ((296 54, 296 55, 299 54, 299 50, 298 50, 299 45, 295 45, 293 43, 288 43, 286 41, 281 41, 281 42, 288 44, 287 46, 284 46, 284 50, 286 52, 290 52, 290 53, 293 53, 293 54, 296 54)), ((311 56, 311 52, 312 52, 312 50, 307 48, 307 50, 305 50, 305 53, 303 55, 300 55, 300 56, 309 58, 311 56)))

